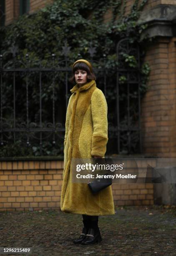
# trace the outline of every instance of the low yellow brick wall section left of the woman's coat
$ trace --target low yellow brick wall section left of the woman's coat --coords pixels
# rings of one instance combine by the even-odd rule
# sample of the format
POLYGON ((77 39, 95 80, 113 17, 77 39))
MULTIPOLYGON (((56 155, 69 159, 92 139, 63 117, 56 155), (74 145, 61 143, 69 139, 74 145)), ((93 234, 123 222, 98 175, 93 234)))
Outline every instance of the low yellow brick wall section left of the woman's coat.
POLYGON ((63 161, 0 162, 0 211, 60 208, 63 161))

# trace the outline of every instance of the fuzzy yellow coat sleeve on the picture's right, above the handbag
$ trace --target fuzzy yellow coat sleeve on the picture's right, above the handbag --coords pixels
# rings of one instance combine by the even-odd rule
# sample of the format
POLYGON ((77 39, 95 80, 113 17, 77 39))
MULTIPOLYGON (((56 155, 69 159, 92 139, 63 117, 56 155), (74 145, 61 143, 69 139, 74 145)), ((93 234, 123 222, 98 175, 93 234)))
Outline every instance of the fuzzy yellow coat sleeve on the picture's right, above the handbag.
POLYGON ((108 142, 108 107, 103 92, 96 89, 91 97, 93 136, 91 156, 104 157, 108 142))

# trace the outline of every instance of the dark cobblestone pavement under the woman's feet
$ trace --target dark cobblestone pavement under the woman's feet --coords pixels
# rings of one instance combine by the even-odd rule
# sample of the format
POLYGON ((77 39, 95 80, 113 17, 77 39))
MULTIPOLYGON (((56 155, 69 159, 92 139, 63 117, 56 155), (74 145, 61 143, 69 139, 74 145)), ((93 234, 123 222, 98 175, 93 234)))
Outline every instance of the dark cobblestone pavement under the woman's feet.
POLYGON ((20 254, 32 256, 176 255, 174 206, 117 207, 99 218, 103 241, 96 245, 73 244, 82 225, 81 215, 58 210, 0 212, 0 247, 32 247, 20 254))

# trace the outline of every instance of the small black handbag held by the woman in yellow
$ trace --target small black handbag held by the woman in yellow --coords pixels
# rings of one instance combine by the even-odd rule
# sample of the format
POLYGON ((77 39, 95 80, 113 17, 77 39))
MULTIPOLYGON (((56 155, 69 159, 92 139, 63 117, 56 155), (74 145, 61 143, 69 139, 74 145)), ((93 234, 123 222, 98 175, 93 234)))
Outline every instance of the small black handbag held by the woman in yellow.
MULTIPOLYGON (((109 174, 106 173, 106 174, 103 174, 103 176, 104 175, 109 175, 109 174)), ((99 178, 94 179, 92 182, 88 182, 88 186, 90 187, 93 194, 100 192, 102 189, 105 189, 111 184, 112 184, 112 179, 104 178, 104 177, 100 179, 99 178)))

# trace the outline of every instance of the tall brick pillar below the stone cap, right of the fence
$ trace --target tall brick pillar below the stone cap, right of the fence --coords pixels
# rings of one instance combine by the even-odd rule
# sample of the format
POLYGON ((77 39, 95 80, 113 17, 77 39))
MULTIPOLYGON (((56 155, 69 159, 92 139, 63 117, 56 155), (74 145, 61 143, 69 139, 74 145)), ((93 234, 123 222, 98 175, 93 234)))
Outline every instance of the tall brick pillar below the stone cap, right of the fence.
POLYGON ((143 153, 176 157, 176 38, 148 46, 149 90, 142 100, 143 153))

